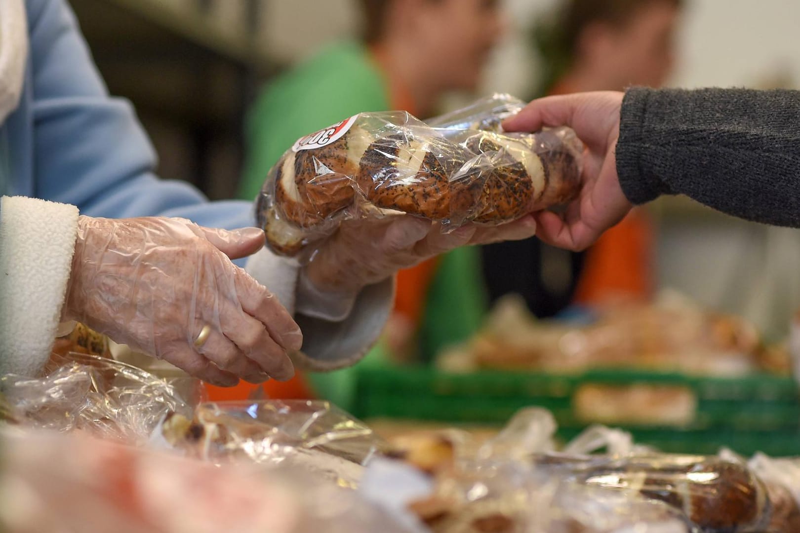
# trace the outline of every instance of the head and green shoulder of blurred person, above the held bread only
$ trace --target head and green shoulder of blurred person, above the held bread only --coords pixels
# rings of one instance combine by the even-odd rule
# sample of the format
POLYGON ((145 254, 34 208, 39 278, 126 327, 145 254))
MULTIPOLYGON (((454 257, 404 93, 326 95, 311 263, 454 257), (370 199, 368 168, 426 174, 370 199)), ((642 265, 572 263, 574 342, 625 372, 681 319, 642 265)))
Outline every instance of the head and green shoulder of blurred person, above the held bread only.
POLYGON ((424 120, 441 97, 474 90, 502 27, 499 0, 359 0, 363 34, 270 82, 250 110, 240 192, 258 193, 294 141, 362 111, 424 120))

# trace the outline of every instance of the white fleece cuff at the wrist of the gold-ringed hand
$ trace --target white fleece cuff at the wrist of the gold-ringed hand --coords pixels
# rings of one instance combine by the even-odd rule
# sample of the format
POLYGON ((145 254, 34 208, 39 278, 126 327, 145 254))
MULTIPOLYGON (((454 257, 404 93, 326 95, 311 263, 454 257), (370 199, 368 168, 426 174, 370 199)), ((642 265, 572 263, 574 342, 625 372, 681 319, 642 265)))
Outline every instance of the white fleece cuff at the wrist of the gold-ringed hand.
POLYGON ((28 197, 0 201, 0 375, 34 376, 58 330, 78 208, 28 197))

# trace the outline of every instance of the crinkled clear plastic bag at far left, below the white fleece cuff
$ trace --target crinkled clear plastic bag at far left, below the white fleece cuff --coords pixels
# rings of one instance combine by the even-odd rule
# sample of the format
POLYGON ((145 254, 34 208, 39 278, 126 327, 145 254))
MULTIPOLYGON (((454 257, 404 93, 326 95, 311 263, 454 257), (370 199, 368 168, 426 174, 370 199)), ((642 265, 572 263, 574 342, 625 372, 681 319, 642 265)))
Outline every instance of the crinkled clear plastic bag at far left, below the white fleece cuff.
POLYGON ((192 412, 171 384, 129 364, 72 353, 51 360, 50 368, 41 378, 0 378, 0 391, 26 426, 141 444, 167 412, 192 412))

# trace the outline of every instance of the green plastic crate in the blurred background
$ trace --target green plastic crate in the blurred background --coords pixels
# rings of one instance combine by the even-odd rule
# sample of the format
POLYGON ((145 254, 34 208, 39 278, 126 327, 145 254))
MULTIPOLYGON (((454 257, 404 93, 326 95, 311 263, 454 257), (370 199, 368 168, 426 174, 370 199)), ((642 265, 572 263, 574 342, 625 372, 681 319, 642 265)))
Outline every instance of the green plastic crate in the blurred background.
POLYGON ((448 374, 431 368, 363 368, 357 372, 353 412, 362 420, 390 418, 450 424, 505 424, 518 409, 553 412, 562 439, 586 422, 573 398, 585 384, 667 385, 687 388, 697 400, 694 420, 681 427, 622 426, 637 442, 662 451, 800 455, 800 399, 794 380, 759 374, 745 378, 693 377, 637 371, 576 375, 538 372, 448 374))

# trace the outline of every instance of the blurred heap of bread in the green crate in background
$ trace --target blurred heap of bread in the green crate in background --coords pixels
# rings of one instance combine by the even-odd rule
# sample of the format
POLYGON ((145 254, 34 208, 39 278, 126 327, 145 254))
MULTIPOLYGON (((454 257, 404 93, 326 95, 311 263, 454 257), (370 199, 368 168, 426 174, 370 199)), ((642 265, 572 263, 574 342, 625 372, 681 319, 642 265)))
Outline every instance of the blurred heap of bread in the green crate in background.
POLYGON ((747 320, 709 311, 677 292, 598 308, 589 324, 536 320, 515 296, 498 300, 485 327, 440 354, 454 372, 479 368, 582 372, 639 368, 703 376, 790 372, 788 353, 767 350, 747 320))

